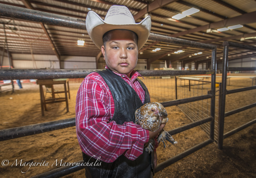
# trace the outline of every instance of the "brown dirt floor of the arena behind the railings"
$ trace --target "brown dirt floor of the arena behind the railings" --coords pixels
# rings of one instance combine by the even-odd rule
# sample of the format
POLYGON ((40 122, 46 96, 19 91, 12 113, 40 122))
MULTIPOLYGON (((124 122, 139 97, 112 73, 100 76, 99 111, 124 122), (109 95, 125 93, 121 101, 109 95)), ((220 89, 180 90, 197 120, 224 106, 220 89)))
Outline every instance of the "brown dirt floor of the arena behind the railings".
MULTIPOLYGON (((248 74, 239 75, 248 76, 248 74)), ((255 74, 249 74, 249 76, 253 75, 255 76, 255 74)), ((11 91, 0 93, 0 130, 75 117, 75 100, 79 85, 80 81, 70 81, 71 98, 68 101, 68 113, 66 113, 65 103, 62 102, 48 104, 48 111, 45 111, 45 116, 41 116, 39 86, 31 83, 23 83, 23 89, 18 90, 18 86, 15 84, 15 92, 13 94, 11 94, 11 91)), ((250 78, 232 78, 230 86, 227 89, 249 86, 251 86, 250 78)), ((8 87, 2 87, 2 90, 4 89, 8 89, 8 87)), ((62 90, 61 86, 55 87, 55 89, 62 90)), ((163 95, 165 94, 164 92, 162 93, 163 95)), ((50 96, 50 94, 47 95, 50 96)), ((152 101, 157 101, 153 94, 151 98, 152 101)), ((226 111, 255 103, 255 98, 255 90, 227 95, 226 111)), ((167 112, 170 120, 165 130, 172 130, 191 123, 177 106, 168 107, 167 112)), ((254 107, 227 117, 224 133, 255 119, 255 115, 256 109, 254 107)), ((167 149, 163 150, 163 145, 160 144, 157 149, 158 164, 209 138, 200 126, 173 135, 173 137, 178 141, 177 145, 170 145, 167 149)), ((164 170, 159 171, 154 177, 256 177, 255 148, 256 124, 253 124, 226 138, 222 150, 217 148, 216 143, 211 143, 164 170)), ((0 159, 1 177, 31 177, 60 167, 59 165, 56 166, 56 160, 58 162, 62 160, 62 164, 64 162, 81 161, 82 154, 76 138, 75 127, 69 127, 2 141, 0 159), (16 162, 18 164, 17 166, 16 162), (32 162, 39 164, 30 167, 29 163, 32 162), (6 165, 7 163, 8 165, 6 165), (20 166, 20 164, 23 165, 20 166)), ((77 171, 65 177, 85 177, 84 170, 77 171)))

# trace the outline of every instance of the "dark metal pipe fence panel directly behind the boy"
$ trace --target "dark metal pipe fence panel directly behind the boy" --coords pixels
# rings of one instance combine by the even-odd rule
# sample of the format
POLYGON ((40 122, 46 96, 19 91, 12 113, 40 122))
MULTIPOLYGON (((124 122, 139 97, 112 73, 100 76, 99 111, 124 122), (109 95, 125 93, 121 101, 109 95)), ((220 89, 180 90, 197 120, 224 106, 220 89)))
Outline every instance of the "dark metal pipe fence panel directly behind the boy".
MULTIPOLYGON (((0 4, 1 16, 16 18, 21 20, 30 20, 35 22, 41 22, 50 25, 67 26, 77 29, 86 29, 85 20, 66 17, 57 14, 51 14, 41 11, 35 11, 26 8, 15 7, 11 5, 0 4)), ((212 44, 204 44, 195 41, 189 41, 179 38, 168 37, 164 35, 152 34, 150 33, 149 38, 154 41, 162 41, 171 44, 181 44, 188 45, 196 48, 204 48, 212 50, 211 59, 211 70, 175 70, 175 71, 164 71, 164 70, 138 70, 142 76, 166 76, 166 75, 201 75, 201 74, 211 74, 211 91, 208 91, 207 95, 190 97, 180 100, 173 100, 163 102, 164 107, 176 106, 183 103, 189 103, 197 100, 211 99, 211 116, 204 118, 202 120, 192 122, 185 126, 168 131, 170 134, 178 134, 190 128, 199 126, 206 122, 211 122, 211 132, 209 139, 199 143, 198 145, 174 156, 160 164, 156 167, 155 172, 158 172, 165 167, 173 164, 174 162, 192 154, 193 152, 207 146, 214 142, 214 112, 215 112, 215 79, 216 79, 216 46, 212 44)), ((92 70, 69 70, 69 69, 55 69, 55 70, 45 70, 45 69, 2 69, 0 70, 0 80, 7 79, 48 79, 48 78, 84 78, 92 70)), ((0 130, 0 140, 10 140, 18 137, 24 137, 28 135, 39 134, 42 132, 73 127, 75 126, 75 118, 63 119, 59 121, 51 121, 40 124, 10 128, 5 130, 0 130)), ((82 163, 83 161, 78 161, 76 163, 82 163)), ((60 167, 34 177, 61 177, 67 174, 73 173, 75 171, 83 169, 83 166, 74 165, 68 167, 60 167)))

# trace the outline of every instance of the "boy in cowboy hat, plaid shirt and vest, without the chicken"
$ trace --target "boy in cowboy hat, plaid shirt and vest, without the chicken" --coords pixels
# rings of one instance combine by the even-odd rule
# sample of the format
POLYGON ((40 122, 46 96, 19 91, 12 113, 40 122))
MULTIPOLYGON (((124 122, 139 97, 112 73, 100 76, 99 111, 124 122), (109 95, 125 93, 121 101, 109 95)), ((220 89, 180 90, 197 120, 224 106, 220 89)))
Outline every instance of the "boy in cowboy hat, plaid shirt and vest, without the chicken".
POLYGON ((76 97, 76 133, 86 177, 152 177, 157 156, 148 154, 144 144, 165 124, 156 132, 134 124, 135 110, 150 97, 137 78, 141 75, 133 70, 138 49, 148 39, 151 19, 135 23, 128 8, 111 6, 105 21, 89 11, 86 29, 107 64, 86 76, 76 97))

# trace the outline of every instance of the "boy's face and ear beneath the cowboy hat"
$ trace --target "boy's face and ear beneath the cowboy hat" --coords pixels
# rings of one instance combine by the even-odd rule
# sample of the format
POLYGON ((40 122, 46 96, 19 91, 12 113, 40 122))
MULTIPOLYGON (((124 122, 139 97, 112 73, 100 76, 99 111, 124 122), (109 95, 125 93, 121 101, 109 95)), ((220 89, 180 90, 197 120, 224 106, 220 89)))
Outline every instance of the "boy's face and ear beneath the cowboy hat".
POLYGON ((107 66, 112 71, 130 77, 137 65, 138 47, 135 34, 129 30, 112 30, 110 38, 101 51, 107 66))

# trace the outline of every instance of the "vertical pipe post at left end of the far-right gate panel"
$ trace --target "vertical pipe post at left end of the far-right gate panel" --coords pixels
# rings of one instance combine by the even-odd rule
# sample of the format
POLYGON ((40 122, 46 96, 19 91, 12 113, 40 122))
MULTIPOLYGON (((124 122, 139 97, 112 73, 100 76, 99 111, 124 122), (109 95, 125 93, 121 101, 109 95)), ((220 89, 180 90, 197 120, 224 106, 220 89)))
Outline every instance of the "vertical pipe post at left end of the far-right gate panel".
POLYGON ((225 118, 225 102, 226 102, 226 85, 227 85, 227 67, 228 67, 228 50, 229 44, 223 42, 223 61, 222 61, 222 81, 221 81, 221 100, 220 115, 219 115, 219 132, 218 132, 218 148, 223 148, 223 132, 224 132, 224 118, 225 118))

